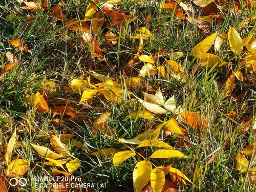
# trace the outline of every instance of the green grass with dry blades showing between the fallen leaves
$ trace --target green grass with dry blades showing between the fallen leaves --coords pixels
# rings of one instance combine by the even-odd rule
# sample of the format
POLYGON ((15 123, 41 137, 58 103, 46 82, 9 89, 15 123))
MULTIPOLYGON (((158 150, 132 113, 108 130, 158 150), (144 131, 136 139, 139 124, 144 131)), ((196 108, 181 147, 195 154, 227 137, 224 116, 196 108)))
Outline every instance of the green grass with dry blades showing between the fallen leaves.
MULTIPOLYGON (((60 1, 50 1, 50 7, 60 1)), ((68 18, 83 18, 83 14, 89 1, 67 0, 63 1, 63 7, 68 18)), ((120 104, 111 103, 103 97, 93 98, 93 102, 79 104, 80 95, 63 90, 64 86, 74 78, 88 77, 89 69, 100 74, 115 77, 115 81, 123 82, 126 75, 123 73, 124 65, 137 52, 139 46, 138 39, 130 39, 135 34, 135 30, 145 26, 145 18, 151 14, 151 21, 148 29, 156 37, 152 40, 144 40, 143 54, 152 54, 159 50, 165 50, 164 57, 159 57, 156 65, 163 65, 164 58, 168 59, 173 52, 183 52, 184 55, 177 59, 187 74, 187 81, 182 82, 172 76, 163 79, 159 74, 147 77, 143 80, 139 89, 131 90, 142 98, 141 91, 146 91, 146 83, 151 83, 153 88, 161 88, 165 99, 175 95, 178 105, 182 105, 184 110, 200 112, 207 122, 204 130, 193 129, 184 121, 179 121, 179 125, 187 130, 190 147, 180 148, 188 156, 185 159, 162 159, 152 160, 158 166, 173 164, 179 168, 193 184, 179 185, 180 191, 252 191, 255 185, 244 182, 245 174, 236 168, 236 155, 242 148, 255 142, 255 135, 250 128, 249 133, 242 135, 234 134, 242 120, 252 116, 255 118, 255 72, 245 73, 244 82, 236 79, 236 88, 231 93, 232 97, 224 97, 223 85, 232 72, 239 69, 240 57, 236 56, 229 48, 228 41, 222 45, 226 50, 217 54, 230 65, 221 68, 213 67, 206 69, 189 53, 191 49, 209 34, 219 31, 227 33, 229 26, 238 28, 243 19, 255 15, 255 10, 246 10, 242 7, 241 13, 231 11, 229 4, 226 5, 223 20, 218 24, 212 24, 209 32, 199 33, 196 25, 190 24, 187 20, 175 18, 174 14, 168 10, 159 13, 159 7, 155 1, 124 1, 117 6, 117 11, 125 14, 139 15, 138 19, 122 30, 113 29, 113 32, 120 37, 118 45, 108 46, 104 42, 106 26, 102 27, 99 33, 99 44, 103 55, 110 64, 99 62, 91 57, 90 51, 84 47, 81 33, 68 31, 65 22, 56 21, 49 17, 50 11, 34 12, 34 22, 30 29, 23 33, 24 19, 29 11, 22 10, 17 1, 4 0, 0 3, 0 65, 2 68, 7 64, 5 52, 11 51, 17 56, 19 65, 0 76, 0 170, 4 174, 5 161, 4 154, 6 143, 16 129, 19 136, 17 145, 13 150, 13 160, 15 157, 28 160, 30 167, 23 176, 31 180, 34 176, 51 175, 52 167, 41 164, 44 158, 39 157, 30 143, 47 146, 52 149, 49 139, 37 139, 37 135, 47 135, 48 131, 56 134, 74 134, 74 139, 84 144, 86 150, 77 148, 70 142, 68 144, 72 155, 81 161, 81 166, 72 175, 81 177, 87 183, 106 183, 106 188, 98 188, 96 191, 133 191, 133 169, 138 156, 124 161, 119 166, 113 166, 111 159, 100 161, 90 156, 89 153, 101 148, 115 147, 123 150, 124 146, 118 143, 118 138, 130 139, 142 133, 148 128, 155 127, 159 120, 131 120, 126 118, 141 107, 139 104, 127 103, 133 98, 127 96, 120 104), (11 13, 18 16, 8 20, 11 13), (36 33, 33 33, 37 30, 36 33), (9 39, 22 39, 32 50, 32 54, 21 52, 9 44, 9 39), (43 86, 44 82, 53 80, 53 89, 43 86), (254 84, 249 80, 254 80, 254 84), (77 117, 73 120, 64 117, 53 117, 51 114, 41 114, 31 108, 26 103, 27 94, 48 93, 48 104, 51 107, 57 105, 71 105, 82 115, 82 119, 77 117), (241 95, 239 99, 237 96, 241 95), (106 123, 108 127, 115 130, 115 134, 106 137, 104 133, 93 136, 91 126, 93 121, 103 112, 111 111, 112 114, 106 123), (226 114, 236 111, 238 116, 230 119, 226 114), (58 121, 62 121, 59 123, 58 121), (208 159, 215 154, 220 147, 227 144, 219 151, 216 158, 206 165, 208 159), (2 158, 3 157, 3 158, 2 158), (200 170, 201 172, 197 171, 200 170)), ((158 1, 159 3, 160 1, 158 1)), ((184 2, 184 1, 183 1, 184 2)), ((189 1, 186 1, 189 2, 189 1)), ((231 1, 233 2, 233 1, 231 1)), ((24 6, 24 4, 22 4, 24 6)), ((249 32, 255 37, 255 24, 248 23, 244 28, 238 30, 241 37, 246 37, 249 32)), ((209 51, 214 53, 214 49, 209 51)), ((244 55, 241 55, 241 58, 244 55)), ((139 63, 140 67, 143 63, 139 63)), ((138 76, 139 68, 135 69, 131 76, 138 76)), ((93 79, 93 82, 96 82, 93 79)), ((98 82, 98 81, 97 81, 98 82)), ((142 106, 143 108, 143 106, 142 106)), ((174 114, 163 114, 157 116, 161 121, 175 117, 174 114)), ((174 135, 164 138, 161 131, 159 140, 178 147, 174 135)), ((133 145, 132 145, 133 146, 133 145)), ((148 149, 145 156, 153 153, 153 149, 148 149)), ((137 150, 139 152, 139 150, 137 150)), ((48 188, 41 188, 47 191, 48 188)), ((26 186, 22 188, 10 188, 10 191, 37 191, 35 188, 26 186)))

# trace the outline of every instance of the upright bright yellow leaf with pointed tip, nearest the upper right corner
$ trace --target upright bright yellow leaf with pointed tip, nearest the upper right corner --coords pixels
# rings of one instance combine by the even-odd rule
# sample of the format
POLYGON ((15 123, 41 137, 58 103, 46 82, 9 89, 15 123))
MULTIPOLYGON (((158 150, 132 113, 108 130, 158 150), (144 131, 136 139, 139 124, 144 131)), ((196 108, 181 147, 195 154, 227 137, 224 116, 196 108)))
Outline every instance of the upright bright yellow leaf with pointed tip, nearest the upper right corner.
POLYGON ((238 31, 232 28, 231 26, 229 27, 228 30, 228 40, 231 50, 237 55, 240 55, 242 53, 244 43, 238 31))

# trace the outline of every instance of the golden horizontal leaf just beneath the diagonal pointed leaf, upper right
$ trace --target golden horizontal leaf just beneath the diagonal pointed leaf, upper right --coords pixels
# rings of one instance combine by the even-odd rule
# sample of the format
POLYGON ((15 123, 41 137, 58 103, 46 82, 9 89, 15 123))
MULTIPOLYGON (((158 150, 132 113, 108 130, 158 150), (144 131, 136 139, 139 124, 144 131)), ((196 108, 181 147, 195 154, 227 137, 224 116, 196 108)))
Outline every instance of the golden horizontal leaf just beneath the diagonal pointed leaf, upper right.
POLYGON ((222 58, 211 53, 201 54, 200 57, 198 57, 197 59, 202 66, 207 68, 211 68, 212 66, 216 65, 219 62, 220 62, 219 67, 227 64, 227 62, 223 61, 222 58))

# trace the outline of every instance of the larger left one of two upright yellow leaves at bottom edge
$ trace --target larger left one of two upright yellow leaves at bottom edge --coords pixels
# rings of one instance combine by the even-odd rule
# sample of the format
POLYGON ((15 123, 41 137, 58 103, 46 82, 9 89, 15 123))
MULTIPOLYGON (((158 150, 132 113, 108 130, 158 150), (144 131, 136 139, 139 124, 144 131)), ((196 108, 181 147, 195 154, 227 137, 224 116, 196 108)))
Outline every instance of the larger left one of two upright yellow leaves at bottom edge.
POLYGON ((135 191, 140 192, 150 181, 152 164, 150 161, 140 161, 135 165, 133 170, 133 183, 135 191))

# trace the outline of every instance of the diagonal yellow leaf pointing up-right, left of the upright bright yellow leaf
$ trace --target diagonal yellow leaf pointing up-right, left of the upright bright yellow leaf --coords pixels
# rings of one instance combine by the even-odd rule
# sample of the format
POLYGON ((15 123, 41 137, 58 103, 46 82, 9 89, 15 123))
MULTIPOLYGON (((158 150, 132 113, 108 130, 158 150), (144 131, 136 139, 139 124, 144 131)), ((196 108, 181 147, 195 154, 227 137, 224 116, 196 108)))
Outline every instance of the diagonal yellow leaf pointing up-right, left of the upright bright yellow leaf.
POLYGON ((217 32, 208 36, 208 37, 206 37, 204 40, 199 42, 199 44, 197 44, 193 48, 193 50, 191 51, 190 54, 195 55, 197 57, 200 57, 202 54, 206 53, 210 49, 212 44, 214 43, 216 35, 217 35, 217 32))

